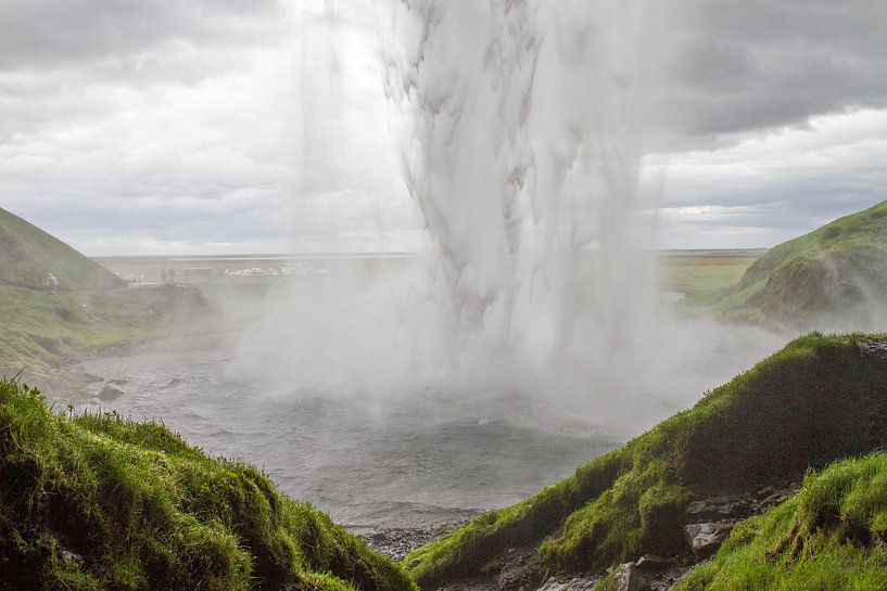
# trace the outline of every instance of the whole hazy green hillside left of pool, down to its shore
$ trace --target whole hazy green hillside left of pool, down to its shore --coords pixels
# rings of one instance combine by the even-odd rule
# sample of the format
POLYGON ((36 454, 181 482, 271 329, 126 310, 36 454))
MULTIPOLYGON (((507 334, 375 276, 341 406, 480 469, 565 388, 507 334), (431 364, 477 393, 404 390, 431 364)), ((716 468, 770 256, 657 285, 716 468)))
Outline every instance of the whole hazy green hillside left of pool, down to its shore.
POLYGON ((79 354, 198 330, 215 316, 194 287, 116 288, 123 286, 104 267, 0 209, 0 376, 23 372, 48 387, 79 354), (43 288, 48 272, 59 280, 55 293, 43 288))

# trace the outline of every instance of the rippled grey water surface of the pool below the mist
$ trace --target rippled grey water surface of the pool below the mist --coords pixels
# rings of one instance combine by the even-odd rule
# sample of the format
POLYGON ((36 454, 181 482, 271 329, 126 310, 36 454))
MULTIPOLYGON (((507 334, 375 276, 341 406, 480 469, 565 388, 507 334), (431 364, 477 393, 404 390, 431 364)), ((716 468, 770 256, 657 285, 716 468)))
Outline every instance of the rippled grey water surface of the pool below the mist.
POLYGON ((593 425, 547 419, 518 395, 267 397, 233 369, 229 347, 173 349, 85 361, 124 391, 89 406, 161 420, 210 453, 261 466, 291 497, 351 525, 426 525, 505 506, 616 446, 593 425))

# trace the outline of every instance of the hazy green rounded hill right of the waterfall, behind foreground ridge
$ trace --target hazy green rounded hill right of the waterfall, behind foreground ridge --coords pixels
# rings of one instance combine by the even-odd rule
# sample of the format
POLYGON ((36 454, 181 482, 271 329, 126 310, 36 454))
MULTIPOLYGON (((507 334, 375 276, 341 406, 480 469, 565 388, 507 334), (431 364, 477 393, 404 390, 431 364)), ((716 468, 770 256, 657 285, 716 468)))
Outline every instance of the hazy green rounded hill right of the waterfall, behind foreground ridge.
POLYGON ((770 249, 731 287, 700 297, 728 320, 869 329, 887 320, 887 202, 770 249))

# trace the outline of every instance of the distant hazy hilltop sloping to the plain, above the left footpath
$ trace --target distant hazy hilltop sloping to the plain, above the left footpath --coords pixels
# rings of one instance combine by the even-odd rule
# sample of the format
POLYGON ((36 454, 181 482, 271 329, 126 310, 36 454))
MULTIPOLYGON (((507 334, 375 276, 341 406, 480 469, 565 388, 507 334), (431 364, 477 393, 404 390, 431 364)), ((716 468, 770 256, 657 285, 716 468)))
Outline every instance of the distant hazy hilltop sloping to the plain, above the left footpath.
POLYGON ((0 208, 0 280, 39 284, 52 273, 60 290, 107 290, 126 282, 33 223, 0 208))

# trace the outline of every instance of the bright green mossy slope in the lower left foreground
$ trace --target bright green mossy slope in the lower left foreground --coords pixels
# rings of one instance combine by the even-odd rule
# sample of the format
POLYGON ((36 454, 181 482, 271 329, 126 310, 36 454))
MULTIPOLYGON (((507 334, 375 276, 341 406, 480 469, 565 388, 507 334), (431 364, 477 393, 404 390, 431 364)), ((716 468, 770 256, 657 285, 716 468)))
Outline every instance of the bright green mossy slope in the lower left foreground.
POLYGON ((0 590, 414 589, 255 468, 0 383, 0 590), (76 553, 79 556, 73 556, 76 553))

